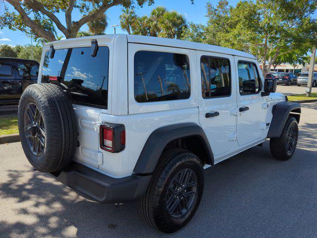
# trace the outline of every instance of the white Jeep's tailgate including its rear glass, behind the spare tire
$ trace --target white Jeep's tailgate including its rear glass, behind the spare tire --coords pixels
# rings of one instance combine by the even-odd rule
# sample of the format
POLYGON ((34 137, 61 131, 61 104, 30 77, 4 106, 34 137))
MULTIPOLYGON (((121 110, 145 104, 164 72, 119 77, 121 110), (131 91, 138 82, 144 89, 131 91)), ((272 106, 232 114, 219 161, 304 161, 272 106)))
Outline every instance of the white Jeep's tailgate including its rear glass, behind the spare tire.
POLYGON ((74 160, 97 169, 103 156, 98 119, 108 107, 109 48, 99 42, 97 55, 92 57, 90 45, 88 41, 77 48, 58 49, 56 46, 53 59, 46 52, 42 81, 58 79, 69 88, 79 132, 74 160))

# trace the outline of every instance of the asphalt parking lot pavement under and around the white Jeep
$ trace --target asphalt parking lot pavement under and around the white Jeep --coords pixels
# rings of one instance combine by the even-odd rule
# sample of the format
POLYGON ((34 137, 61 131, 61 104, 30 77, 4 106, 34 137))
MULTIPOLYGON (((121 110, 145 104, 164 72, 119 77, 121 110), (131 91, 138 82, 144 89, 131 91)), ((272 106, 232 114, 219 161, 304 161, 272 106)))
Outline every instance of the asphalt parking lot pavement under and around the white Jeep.
POLYGON ((0 237, 294 237, 317 234, 317 103, 302 104, 294 157, 276 161, 268 141, 205 171, 202 203, 181 231, 165 235, 138 203, 98 204, 33 171, 20 143, 0 145, 0 237))

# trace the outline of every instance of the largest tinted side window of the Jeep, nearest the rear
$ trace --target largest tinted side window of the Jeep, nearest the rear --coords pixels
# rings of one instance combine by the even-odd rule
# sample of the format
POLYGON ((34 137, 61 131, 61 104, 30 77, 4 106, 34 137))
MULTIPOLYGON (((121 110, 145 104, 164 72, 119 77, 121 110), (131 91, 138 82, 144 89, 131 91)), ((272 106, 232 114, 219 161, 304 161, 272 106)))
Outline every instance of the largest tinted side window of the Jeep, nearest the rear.
POLYGON ((139 51, 134 56, 134 98, 137 102, 190 97, 190 68, 186 55, 139 51))

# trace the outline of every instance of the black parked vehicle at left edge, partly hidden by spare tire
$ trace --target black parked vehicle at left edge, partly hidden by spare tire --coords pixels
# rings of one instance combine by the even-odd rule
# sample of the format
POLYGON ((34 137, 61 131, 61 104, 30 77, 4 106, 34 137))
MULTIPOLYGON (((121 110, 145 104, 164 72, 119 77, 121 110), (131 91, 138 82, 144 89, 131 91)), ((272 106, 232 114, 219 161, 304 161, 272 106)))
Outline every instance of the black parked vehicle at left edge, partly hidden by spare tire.
POLYGON ((24 89, 37 82, 39 63, 0 57, 0 105, 17 104, 24 89))

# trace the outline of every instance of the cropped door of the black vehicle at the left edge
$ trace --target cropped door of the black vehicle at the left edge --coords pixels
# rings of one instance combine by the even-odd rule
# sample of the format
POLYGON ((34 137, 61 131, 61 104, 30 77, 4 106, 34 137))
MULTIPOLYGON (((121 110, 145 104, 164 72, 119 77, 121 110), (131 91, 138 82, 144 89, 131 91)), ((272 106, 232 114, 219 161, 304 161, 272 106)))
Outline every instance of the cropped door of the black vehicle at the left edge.
POLYGON ((16 83, 11 60, 0 60, 0 99, 16 98, 16 83))

